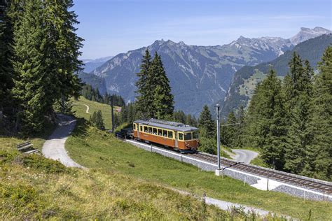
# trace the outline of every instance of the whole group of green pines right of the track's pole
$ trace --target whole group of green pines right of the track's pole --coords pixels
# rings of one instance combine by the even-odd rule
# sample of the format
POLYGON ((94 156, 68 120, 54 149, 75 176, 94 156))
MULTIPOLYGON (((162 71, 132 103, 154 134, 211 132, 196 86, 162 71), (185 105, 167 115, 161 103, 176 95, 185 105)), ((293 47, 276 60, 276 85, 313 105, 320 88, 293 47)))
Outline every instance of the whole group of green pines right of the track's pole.
POLYGON ((228 120, 240 125, 226 131, 231 142, 225 144, 258 148, 271 168, 332 180, 331 89, 332 46, 315 76, 310 62, 293 52, 283 80, 270 69, 247 111, 241 108, 237 118, 230 112, 228 120))

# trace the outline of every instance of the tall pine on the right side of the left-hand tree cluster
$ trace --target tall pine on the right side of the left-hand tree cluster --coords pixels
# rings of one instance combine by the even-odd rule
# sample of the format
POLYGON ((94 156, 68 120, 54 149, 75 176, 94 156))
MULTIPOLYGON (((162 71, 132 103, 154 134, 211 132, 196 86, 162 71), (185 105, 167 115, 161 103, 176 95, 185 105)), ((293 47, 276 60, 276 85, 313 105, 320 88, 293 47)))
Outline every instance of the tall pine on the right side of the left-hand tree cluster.
POLYGON ((48 99, 78 97, 81 91, 81 80, 78 71, 83 63, 78 59, 82 55, 80 48, 83 39, 76 34, 79 24, 77 15, 70 10, 74 6, 72 0, 43 1, 45 22, 48 31, 48 73, 52 73, 53 85, 46 91, 48 99))

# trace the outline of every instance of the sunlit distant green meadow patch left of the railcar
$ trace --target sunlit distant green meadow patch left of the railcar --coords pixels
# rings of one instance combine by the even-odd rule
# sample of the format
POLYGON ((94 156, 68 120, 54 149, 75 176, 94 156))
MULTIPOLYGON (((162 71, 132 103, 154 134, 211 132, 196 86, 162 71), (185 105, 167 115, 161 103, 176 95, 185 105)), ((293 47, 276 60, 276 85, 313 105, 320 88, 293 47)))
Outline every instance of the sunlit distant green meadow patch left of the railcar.
MULTIPOLYGON (((74 100, 73 104, 74 106, 72 110, 74 111, 75 115, 78 117, 84 117, 85 120, 89 120, 90 116, 94 111, 102 110, 102 116, 106 129, 112 128, 111 106, 107 104, 100 104, 95 101, 89 101, 82 96, 78 100, 74 100), (86 113, 87 108, 85 105, 89 106, 89 113, 86 113)), ((116 114, 115 111, 114 114, 116 114)))

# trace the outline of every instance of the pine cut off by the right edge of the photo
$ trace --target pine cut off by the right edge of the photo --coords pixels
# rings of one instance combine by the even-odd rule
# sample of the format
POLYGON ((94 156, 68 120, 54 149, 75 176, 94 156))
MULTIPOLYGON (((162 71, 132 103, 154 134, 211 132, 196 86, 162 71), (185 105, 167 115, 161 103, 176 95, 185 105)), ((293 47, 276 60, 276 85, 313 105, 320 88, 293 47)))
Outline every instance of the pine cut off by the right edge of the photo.
POLYGON ((310 149, 315 178, 332 180, 332 47, 326 48, 321 62, 319 75, 314 81, 314 99, 312 101, 313 141, 310 149))

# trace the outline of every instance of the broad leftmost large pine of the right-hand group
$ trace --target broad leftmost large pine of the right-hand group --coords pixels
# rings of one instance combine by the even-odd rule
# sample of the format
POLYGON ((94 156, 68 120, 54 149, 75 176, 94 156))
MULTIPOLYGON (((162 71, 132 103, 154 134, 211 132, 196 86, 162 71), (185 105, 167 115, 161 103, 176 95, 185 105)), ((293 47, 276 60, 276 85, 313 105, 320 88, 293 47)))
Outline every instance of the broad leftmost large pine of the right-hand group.
POLYGON ((282 169, 286 145, 286 113, 282 84, 270 71, 256 88, 249 104, 246 127, 252 144, 261 149, 263 160, 282 169))

